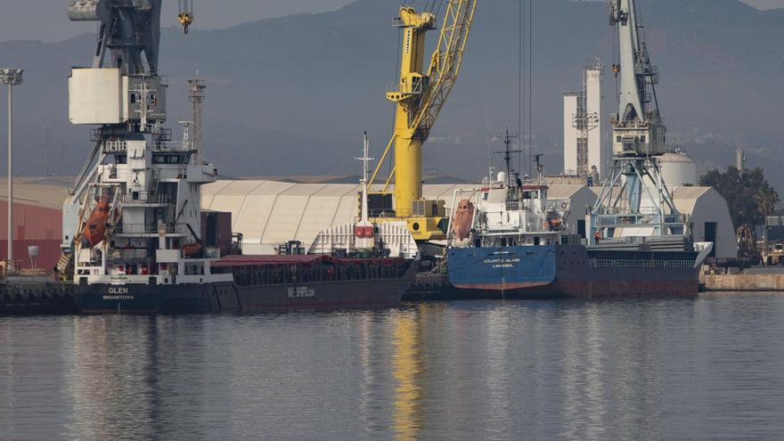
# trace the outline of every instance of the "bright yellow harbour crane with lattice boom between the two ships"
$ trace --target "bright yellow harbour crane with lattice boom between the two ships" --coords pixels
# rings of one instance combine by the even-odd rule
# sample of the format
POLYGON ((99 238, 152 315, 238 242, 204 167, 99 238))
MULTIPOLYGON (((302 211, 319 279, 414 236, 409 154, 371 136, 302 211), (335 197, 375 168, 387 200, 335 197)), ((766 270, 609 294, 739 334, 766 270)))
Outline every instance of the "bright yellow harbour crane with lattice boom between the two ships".
POLYGON ((370 184, 375 182, 394 146, 394 167, 383 190, 372 192, 371 198, 394 196, 395 216, 377 220, 405 221, 417 241, 445 238, 444 201, 422 199, 422 144, 457 81, 478 0, 445 2, 437 48, 426 71, 425 37, 437 28, 436 14, 403 6, 394 19, 394 25, 404 32, 400 80, 387 92, 396 107, 395 130, 370 180, 370 184), (395 190, 389 192, 393 179, 395 190))

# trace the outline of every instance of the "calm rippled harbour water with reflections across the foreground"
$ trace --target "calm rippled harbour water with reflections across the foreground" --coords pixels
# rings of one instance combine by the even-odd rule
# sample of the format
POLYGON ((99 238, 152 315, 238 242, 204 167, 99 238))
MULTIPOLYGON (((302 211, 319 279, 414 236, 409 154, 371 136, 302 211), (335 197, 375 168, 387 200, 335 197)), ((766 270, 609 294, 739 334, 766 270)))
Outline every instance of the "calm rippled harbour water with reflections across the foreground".
POLYGON ((0 319, 0 439, 784 439, 784 297, 0 319))

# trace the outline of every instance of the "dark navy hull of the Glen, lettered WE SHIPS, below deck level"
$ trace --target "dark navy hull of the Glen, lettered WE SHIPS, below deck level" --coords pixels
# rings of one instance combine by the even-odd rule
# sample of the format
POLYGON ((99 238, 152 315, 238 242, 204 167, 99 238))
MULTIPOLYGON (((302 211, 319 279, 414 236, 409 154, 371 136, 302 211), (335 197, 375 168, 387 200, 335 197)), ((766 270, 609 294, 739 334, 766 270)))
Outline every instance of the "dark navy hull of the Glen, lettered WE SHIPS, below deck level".
POLYGON ((81 314, 264 313, 390 307, 399 305, 413 275, 412 268, 398 279, 273 286, 92 284, 77 286, 74 300, 81 314))

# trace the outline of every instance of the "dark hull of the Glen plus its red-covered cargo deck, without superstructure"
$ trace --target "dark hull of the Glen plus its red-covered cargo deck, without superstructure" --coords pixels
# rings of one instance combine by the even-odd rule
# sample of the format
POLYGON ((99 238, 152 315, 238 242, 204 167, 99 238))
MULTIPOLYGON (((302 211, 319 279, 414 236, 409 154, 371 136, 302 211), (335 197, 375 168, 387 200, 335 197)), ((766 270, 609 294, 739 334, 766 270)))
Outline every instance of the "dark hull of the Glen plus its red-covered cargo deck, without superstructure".
POLYGON ((389 307, 400 303, 417 265, 400 257, 232 256, 211 268, 204 282, 94 283, 78 286, 74 298, 82 314, 389 307))

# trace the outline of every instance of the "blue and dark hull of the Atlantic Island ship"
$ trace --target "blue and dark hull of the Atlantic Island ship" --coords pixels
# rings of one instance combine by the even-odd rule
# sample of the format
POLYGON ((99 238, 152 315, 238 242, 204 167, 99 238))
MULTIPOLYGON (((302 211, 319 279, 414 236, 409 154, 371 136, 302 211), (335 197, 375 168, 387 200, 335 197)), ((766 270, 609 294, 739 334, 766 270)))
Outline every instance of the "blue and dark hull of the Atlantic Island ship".
POLYGON ((597 259, 589 257, 583 246, 552 245, 453 249, 448 265, 457 298, 681 297, 698 294, 699 274, 695 268, 698 265, 694 265, 693 253, 635 258, 600 259, 597 264, 597 259))

